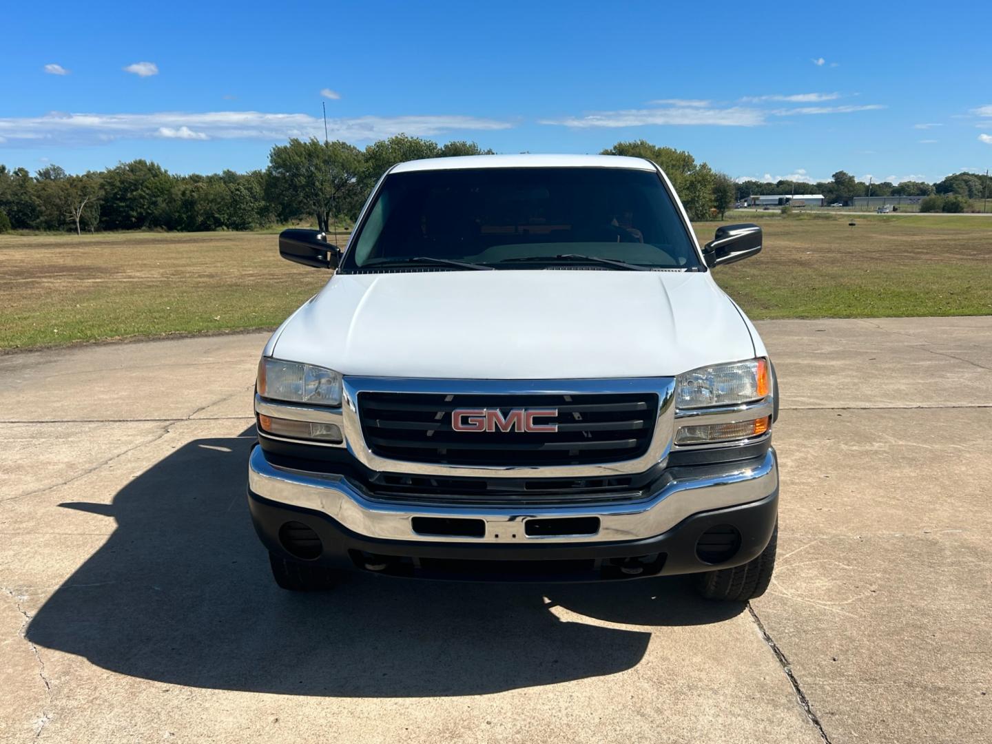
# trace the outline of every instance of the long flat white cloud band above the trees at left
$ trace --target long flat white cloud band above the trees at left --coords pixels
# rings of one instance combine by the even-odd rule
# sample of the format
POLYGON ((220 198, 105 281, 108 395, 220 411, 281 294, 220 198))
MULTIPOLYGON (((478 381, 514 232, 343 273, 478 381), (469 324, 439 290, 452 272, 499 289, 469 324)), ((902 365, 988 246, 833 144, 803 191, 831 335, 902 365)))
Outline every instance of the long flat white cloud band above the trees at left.
MULTIPOLYGON (((331 139, 377 140, 406 132, 430 137, 458 130, 492 131, 511 124, 473 116, 360 116, 327 119, 331 139)), ((309 114, 260 111, 89 114, 52 112, 37 117, 0 117, 0 139, 8 144, 81 145, 118 139, 323 139, 323 120, 309 114)))

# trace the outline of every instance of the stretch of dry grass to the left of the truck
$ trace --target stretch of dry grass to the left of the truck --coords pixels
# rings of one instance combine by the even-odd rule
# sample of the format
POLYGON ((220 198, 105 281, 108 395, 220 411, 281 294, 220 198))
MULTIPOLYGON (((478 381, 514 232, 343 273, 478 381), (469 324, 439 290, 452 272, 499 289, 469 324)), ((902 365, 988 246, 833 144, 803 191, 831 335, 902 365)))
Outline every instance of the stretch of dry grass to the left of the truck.
POLYGON ((328 274, 256 233, 0 236, 0 348, 269 328, 328 274))

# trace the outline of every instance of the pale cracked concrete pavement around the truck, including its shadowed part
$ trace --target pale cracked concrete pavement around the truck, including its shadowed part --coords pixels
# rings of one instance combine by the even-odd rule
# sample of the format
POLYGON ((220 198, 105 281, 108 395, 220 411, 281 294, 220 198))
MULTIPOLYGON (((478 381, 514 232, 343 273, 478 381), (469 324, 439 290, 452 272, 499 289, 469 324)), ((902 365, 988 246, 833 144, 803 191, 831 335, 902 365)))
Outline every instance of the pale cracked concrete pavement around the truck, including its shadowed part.
POLYGON ((0 357, 0 740, 992 740, 992 318, 760 323, 769 593, 276 588, 244 497, 265 336, 0 357))

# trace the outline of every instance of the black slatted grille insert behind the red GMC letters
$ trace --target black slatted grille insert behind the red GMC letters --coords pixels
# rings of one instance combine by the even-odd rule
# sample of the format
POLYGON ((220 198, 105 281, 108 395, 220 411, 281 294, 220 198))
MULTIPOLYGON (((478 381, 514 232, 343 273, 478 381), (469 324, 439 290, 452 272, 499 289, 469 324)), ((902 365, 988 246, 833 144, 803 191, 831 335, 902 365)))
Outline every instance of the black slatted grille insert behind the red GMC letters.
POLYGON ((366 444, 391 459, 464 465, 569 465, 619 462, 647 452, 658 415, 656 393, 441 394, 359 392, 366 444), (537 420, 557 431, 460 432, 458 410, 555 410, 537 420))

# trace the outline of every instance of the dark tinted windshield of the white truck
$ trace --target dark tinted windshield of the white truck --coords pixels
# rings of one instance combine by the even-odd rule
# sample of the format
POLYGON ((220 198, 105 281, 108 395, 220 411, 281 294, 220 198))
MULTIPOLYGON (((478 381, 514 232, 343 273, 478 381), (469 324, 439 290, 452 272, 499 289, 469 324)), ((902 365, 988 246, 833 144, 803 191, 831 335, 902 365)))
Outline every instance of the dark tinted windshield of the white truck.
POLYGON ((694 269, 695 249, 658 174, 610 168, 415 171, 386 178, 343 273, 694 269))

